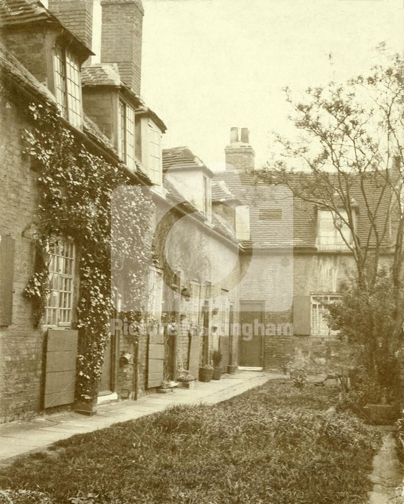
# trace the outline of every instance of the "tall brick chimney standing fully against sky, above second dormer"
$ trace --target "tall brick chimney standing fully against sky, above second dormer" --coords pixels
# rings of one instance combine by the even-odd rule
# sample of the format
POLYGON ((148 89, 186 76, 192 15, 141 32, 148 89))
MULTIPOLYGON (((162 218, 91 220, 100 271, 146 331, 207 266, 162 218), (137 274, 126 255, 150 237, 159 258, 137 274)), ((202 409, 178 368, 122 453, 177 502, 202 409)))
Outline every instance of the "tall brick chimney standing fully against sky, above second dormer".
POLYGON ((101 63, 116 63, 119 75, 134 93, 141 93, 141 0, 101 0, 101 63))

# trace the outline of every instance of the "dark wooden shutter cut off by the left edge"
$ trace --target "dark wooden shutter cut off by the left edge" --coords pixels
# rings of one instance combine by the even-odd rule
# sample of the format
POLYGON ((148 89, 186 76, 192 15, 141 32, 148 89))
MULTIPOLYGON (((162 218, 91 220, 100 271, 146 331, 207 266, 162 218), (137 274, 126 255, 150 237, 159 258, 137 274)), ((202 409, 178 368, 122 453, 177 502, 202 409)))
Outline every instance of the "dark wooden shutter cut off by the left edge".
POLYGON ((15 240, 0 236, 0 326, 11 326, 13 319, 15 240))

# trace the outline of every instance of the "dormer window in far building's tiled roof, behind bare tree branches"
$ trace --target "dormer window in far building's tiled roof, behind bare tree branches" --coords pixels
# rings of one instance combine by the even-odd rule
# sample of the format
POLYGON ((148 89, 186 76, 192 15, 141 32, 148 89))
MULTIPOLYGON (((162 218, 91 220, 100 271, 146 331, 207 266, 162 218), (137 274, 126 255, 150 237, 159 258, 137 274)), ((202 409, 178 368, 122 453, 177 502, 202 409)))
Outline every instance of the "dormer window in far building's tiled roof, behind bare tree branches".
POLYGON ((320 247, 343 248, 347 246, 347 243, 351 243, 351 230, 346 224, 348 214, 346 211, 340 211, 339 214, 330 210, 319 210, 318 245, 320 247))

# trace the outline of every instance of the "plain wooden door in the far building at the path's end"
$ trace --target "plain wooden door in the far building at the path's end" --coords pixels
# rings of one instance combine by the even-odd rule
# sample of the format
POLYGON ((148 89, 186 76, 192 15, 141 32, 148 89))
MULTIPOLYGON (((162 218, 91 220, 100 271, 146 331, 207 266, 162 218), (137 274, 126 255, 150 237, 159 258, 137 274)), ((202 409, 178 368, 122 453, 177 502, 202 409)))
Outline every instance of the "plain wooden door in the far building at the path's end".
POLYGON ((240 301, 240 324, 239 365, 242 367, 262 367, 263 301, 240 301), (247 326, 244 327, 244 324, 247 326))

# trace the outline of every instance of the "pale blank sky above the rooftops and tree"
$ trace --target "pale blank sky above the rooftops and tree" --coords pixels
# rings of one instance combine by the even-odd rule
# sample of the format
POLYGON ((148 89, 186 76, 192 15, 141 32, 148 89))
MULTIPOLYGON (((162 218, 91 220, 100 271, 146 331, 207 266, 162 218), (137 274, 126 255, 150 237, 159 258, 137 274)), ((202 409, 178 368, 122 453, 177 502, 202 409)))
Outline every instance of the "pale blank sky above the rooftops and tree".
POLYGON ((380 42, 404 51, 404 0, 143 0, 142 96, 163 147, 224 169, 230 128, 249 128, 256 166, 268 132, 293 136, 283 87, 345 80, 380 42), (330 65, 329 54, 333 63, 330 65))

